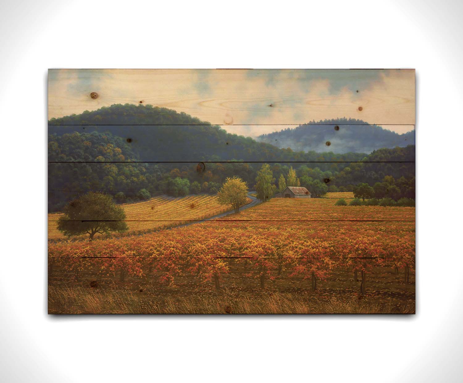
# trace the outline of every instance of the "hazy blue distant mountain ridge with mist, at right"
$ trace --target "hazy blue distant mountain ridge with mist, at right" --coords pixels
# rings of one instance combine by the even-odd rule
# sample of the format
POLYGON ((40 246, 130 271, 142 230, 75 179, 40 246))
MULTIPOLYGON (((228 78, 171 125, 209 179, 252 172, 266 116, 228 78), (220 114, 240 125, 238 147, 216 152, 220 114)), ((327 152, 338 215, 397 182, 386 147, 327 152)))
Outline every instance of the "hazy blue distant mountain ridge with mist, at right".
POLYGON ((296 128, 261 134, 256 140, 279 148, 290 147, 295 152, 324 152, 329 142, 329 150, 333 153, 371 153, 383 147, 414 145, 415 132, 398 134, 363 120, 338 118, 310 121, 296 128), (335 129, 337 125, 339 129, 335 129))

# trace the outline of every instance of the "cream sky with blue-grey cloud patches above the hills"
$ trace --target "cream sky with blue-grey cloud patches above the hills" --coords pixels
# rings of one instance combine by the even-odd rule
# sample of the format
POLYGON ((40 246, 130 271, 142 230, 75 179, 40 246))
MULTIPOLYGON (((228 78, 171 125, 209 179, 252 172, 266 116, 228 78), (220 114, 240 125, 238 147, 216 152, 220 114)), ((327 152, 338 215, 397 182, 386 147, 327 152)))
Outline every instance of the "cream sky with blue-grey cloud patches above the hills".
POLYGON ((49 118, 142 103, 251 137, 338 117, 397 133, 415 123, 414 70, 62 69, 49 70, 48 94, 49 118))

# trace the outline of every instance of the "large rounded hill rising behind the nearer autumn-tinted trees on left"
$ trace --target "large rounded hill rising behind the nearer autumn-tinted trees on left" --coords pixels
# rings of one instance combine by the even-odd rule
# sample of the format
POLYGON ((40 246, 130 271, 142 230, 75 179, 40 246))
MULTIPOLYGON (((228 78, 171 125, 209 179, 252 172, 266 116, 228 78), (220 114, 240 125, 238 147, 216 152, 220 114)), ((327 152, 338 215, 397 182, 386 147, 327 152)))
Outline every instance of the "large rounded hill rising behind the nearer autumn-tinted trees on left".
MULTIPOLYGON (((49 134, 98 132, 130 139, 137 160, 146 161, 358 161, 365 152, 333 153, 331 147, 319 152, 295 151, 258 142, 250 137, 227 133, 207 121, 151 105, 114 104, 79 115, 52 118, 49 134)), ((129 141, 127 141, 129 142, 129 141)))

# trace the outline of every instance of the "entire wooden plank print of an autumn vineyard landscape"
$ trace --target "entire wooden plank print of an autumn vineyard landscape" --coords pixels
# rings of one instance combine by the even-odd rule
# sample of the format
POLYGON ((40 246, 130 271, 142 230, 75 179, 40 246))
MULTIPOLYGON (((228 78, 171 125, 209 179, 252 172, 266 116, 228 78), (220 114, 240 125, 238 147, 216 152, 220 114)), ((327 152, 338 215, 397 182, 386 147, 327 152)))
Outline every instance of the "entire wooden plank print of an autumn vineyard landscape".
POLYGON ((415 313, 414 70, 48 82, 49 313, 415 313))

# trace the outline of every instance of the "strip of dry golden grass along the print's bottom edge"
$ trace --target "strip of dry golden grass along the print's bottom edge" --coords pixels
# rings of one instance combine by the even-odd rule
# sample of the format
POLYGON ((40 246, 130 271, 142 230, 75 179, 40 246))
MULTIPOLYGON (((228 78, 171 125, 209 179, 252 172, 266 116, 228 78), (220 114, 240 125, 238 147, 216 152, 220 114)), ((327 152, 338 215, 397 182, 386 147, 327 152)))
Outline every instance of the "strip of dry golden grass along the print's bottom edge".
POLYGON ((89 290, 49 287, 49 313, 69 314, 386 314, 415 313, 413 303, 359 300, 350 297, 311 297, 294 294, 190 295, 156 297, 130 290, 89 290))

